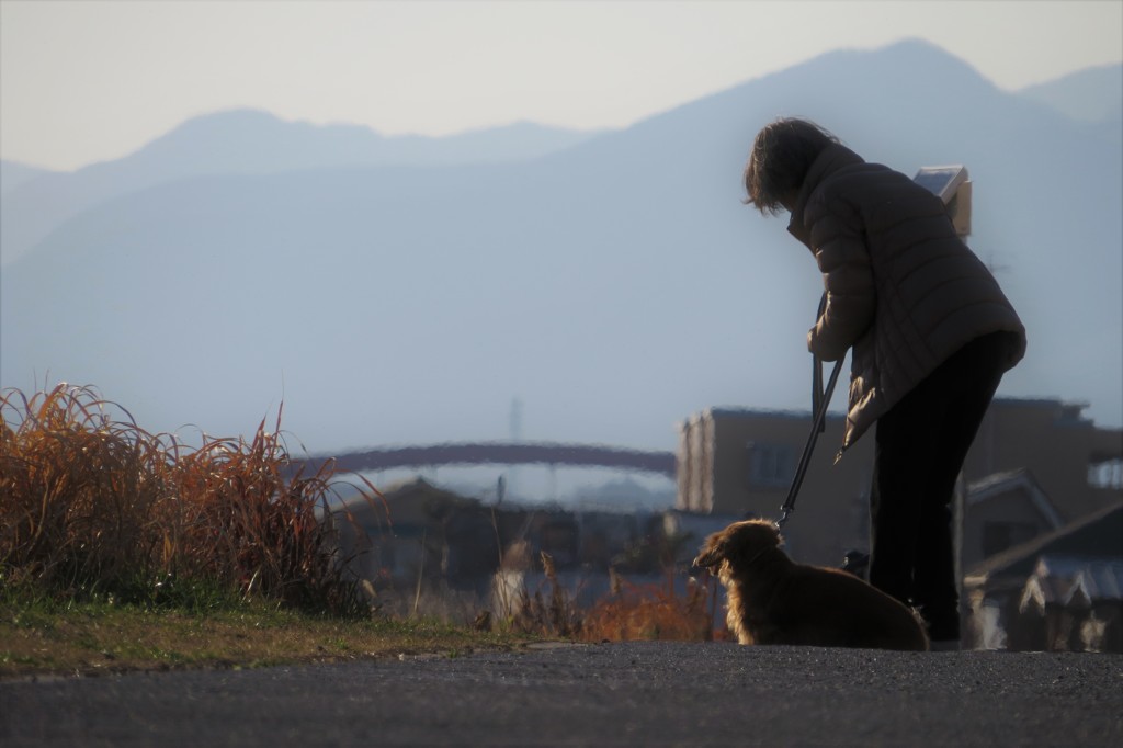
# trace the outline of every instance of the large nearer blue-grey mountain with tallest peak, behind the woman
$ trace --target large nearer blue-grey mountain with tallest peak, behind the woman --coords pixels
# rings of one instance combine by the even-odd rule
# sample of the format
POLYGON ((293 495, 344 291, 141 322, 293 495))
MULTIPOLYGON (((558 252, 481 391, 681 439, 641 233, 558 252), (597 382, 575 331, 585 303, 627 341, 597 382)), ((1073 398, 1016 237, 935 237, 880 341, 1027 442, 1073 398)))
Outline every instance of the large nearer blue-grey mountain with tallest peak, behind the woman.
POLYGON ((1002 392, 1123 420, 1117 133, 917 42, 828 54, 532 161, 120 193, 4 267, 0 382, 49 371, 146 428, 217 434, 283 399, 312 450, 501 438, 515 395, 529 439, 667 449, 709 405, 806 409, 821 280, 784 218, 740 202, 751 138, 779 115, 905 173, 967 164, 970 243, 1029 328, 1002 392))

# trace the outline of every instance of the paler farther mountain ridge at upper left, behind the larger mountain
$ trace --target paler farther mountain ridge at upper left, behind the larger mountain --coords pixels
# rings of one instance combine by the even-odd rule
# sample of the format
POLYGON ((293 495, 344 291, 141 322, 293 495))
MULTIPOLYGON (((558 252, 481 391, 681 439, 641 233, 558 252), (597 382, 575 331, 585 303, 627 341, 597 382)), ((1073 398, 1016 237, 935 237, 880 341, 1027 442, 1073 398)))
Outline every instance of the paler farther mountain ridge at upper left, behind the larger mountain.
POLYGON ((0 262, 11 262, 83 210, 189 176, 515 162, 595 135, 520 122, 442 138, 385 137, 367 127, 291 122, 253 109, 206 115, 117 161, 44 173, 35 180, 17 171, 19 189, 11 194, 6 189, 0 204, 0 262))

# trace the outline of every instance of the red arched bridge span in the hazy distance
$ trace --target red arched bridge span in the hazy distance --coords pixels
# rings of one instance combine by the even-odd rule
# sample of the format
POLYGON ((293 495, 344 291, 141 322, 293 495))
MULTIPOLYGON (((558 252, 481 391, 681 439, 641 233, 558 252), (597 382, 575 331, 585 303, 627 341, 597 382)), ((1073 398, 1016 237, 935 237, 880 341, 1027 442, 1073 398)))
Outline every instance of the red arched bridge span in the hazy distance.
POLYGON ((615 467, 659 473, 675 477, 675 454, 645 451, 600 445, 500 443, 439 444, 412 447, 380 447, 330 457, 298 460, 318 468, 335 459, 336 469, 347 473, 385 471, 399 467, 440 465, 564 465, 566 467, 615 467))

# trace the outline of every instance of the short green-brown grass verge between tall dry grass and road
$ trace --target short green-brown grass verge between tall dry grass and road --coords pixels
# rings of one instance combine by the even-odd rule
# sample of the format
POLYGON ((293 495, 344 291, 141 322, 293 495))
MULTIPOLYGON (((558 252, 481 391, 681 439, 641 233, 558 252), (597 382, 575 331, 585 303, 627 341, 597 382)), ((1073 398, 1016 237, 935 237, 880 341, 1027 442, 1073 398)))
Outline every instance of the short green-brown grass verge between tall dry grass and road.
POLYGON ((247 668, 513 649, 536 640, 436 620, 317 615, 262 603, 198 610, 108 601, 0 603, 0 678, 247 668))

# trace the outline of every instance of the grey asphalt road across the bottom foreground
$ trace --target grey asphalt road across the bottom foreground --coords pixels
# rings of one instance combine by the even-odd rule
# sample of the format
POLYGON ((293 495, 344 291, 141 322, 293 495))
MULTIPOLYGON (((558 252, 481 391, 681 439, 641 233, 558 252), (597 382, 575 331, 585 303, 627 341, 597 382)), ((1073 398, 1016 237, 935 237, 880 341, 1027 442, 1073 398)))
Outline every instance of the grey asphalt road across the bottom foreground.
POLYGON ((630 642, 0 682, 0 746, 1123 746, 1123 656, 630 642))

